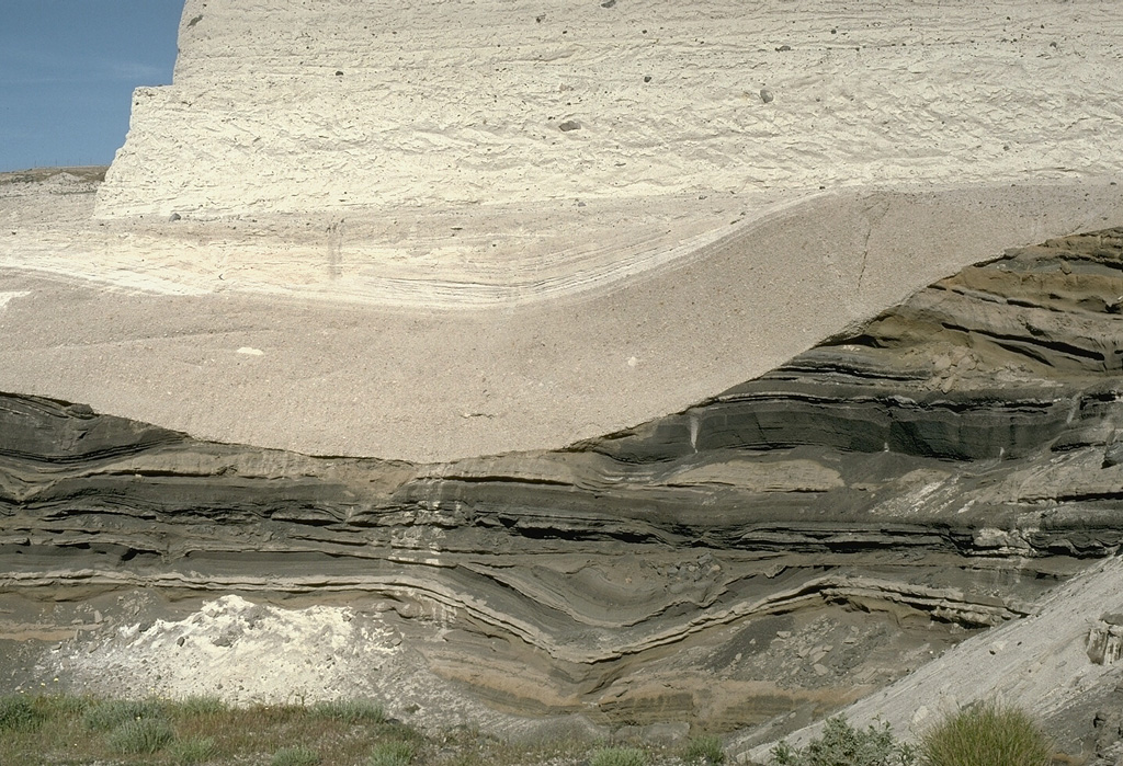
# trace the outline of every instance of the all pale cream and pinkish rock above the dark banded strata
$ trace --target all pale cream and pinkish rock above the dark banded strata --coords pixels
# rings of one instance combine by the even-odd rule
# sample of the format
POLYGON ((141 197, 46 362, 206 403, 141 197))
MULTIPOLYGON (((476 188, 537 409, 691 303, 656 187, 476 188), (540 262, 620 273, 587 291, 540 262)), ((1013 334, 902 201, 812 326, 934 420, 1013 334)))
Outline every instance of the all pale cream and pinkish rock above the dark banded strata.
POLYGON ((0 389, 301 452, 599 436, 1123 222, 1121 40, 1115 0, 189 0, 101 218, 0 186, 0 389))

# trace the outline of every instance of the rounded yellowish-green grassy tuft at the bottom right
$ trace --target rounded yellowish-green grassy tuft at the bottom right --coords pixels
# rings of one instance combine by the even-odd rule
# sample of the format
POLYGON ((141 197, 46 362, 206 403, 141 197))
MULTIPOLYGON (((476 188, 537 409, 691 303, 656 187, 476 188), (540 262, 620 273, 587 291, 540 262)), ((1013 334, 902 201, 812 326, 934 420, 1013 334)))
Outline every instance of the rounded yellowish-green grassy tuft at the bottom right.
POLYGON ((984 703, 964 708, 921 739, 925 766, 1049 766, 1049 738, 1024 711, 984 703))

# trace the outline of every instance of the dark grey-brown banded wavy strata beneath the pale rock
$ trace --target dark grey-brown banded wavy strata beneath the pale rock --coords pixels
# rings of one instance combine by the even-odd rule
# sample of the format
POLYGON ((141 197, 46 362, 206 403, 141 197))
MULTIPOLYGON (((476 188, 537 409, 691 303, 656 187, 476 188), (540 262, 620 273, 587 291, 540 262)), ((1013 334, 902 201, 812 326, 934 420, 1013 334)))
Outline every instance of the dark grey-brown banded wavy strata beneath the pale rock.
POLYGON ((6 396, 0 588, 375 598, 496 709, 821 712, 1117 550, 1120 296, 1123 230, 1012 250, 686 412, 451 463, 6 396))

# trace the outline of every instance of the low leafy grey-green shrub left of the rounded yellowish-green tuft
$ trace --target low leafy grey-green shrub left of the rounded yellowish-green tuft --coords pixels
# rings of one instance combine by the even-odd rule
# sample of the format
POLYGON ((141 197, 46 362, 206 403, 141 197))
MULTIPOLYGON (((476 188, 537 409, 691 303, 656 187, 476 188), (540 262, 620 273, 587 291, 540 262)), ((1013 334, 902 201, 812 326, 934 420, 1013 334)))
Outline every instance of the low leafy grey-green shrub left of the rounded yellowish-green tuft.
POLYGON ((780 742, 772 754, 779 766, 911 766, 916 762, 913 749, 894 739, 888 723, 859 731, 842 716, 827 719, 823 736, 806 747, 795 749, 780 742))

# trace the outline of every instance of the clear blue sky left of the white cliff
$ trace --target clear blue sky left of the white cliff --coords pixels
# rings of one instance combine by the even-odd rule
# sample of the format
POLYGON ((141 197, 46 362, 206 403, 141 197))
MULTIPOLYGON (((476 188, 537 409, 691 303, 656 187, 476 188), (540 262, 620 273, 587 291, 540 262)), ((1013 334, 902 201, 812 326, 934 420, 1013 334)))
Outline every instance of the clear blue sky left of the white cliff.
POLYGON ((184 0, 0 0, 0 170, 108 165, 172 82, 184 0))

